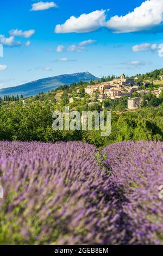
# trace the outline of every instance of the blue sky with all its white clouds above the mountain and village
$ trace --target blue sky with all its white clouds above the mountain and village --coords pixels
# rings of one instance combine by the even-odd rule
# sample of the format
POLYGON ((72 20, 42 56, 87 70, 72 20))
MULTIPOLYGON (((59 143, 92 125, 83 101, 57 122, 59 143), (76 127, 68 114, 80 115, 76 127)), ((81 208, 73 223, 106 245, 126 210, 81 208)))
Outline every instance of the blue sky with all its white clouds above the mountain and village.
POLYGON ((74 72, 160 69, 162 22, 163 0, 1 1, 0 88, 74 72))

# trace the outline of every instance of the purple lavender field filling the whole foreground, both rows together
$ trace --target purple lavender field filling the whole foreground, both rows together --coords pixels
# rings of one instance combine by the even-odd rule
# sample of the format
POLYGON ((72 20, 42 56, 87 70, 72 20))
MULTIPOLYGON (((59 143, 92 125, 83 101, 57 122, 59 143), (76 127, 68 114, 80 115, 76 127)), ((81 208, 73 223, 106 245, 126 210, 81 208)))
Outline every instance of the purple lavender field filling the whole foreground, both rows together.
POLYGON ((0 142, 1 245, 163 244, 163 143, 0 142))

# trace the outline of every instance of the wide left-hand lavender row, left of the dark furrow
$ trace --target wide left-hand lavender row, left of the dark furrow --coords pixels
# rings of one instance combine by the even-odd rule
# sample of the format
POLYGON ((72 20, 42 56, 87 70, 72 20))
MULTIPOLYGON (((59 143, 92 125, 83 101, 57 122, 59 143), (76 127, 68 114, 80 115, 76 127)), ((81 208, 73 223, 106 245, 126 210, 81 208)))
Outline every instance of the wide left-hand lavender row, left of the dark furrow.
POLYGON ((1 142, 1 245, 118 243, 120 213, 96 154, 82 142, 1 142))

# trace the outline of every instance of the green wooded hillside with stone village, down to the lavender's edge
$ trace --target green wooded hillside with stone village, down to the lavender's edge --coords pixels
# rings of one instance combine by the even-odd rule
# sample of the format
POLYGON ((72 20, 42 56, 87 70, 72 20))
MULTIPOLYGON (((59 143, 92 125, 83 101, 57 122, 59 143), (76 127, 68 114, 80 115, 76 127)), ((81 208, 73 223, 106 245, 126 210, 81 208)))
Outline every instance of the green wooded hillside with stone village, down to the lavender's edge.
MULTIPOLYGON (((9 141, 83 141, 101 148, 122 141, 163 141, 163 69, 134 77, 114 75, 95 77, 89 82, 63 84, 47 93, 22 97, 13 101, 5 97, 0 104, 0 139, 9 141), (147 82, 149 80, 149 82, 147 82), (90 114, 111 112, 111 134, 101 131, 54 131, 54 111, 83 111, 90 114), (26 129, 24 129, 26 127, 26 129)), ((85 122, 83 116, 82 123, 85 122)))

